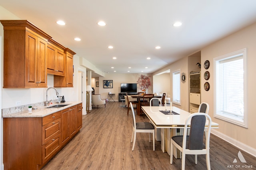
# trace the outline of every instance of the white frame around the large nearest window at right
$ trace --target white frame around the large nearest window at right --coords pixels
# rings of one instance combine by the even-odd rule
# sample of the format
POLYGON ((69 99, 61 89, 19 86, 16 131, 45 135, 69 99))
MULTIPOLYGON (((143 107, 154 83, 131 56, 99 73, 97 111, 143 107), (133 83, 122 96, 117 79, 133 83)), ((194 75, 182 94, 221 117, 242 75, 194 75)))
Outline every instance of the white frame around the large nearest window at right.
POLYGON ((241 49, 226 55, 222 55, 220 57, 216 57, 213 59, 214 60, 214 117, 218 118, 218 119, 222 119, 224 121, 233 123, 235 125, 239 125, 241 127, 245 127, 248 128, 248 113, 247 113, 247 70, 246 70, 246 49, 241 49), (235 58, 238 58, 240 56, 240 58, 243 59, 243 86, 244 86, 244 116, 243 117, 238 117, 235 116, 233 114, 225 114, 224 112, 222 112, 220 110, 220 107, 218 106, 218 101, 219 97, 218 97, 218 75, 217 75, 217 67, 218 64, 220 63, 220 61, 224 61, 226 59, 228 60, 232 60, 235 58))

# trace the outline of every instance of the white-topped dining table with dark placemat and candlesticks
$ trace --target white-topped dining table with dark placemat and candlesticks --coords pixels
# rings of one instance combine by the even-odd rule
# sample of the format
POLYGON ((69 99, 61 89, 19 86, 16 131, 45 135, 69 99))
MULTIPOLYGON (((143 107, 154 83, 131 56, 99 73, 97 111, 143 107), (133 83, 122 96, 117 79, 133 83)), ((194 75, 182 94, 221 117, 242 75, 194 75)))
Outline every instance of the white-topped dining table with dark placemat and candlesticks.
MULTIPOLYGON (((180 135, 182 135, 185 121, 187 117, 191 115, 191 113, 174 106, 172 106, 172 109, 170 108, 170 106, 142 106, 142 110, 144 111, 150 122, 154 125, 154 127, 161 129, 161 149, 163 152, 168 152, 168 154, 170 155, 170 138, 177 135, 177 128, 180 128, 180 135), (170 112, 170 110, 177 114, 164 114, 168 113, 164 111, 170 112)), ((207 125, 208 120, 206 120, 206 126, 207 125)), ((218 128, 218 123, 212 122, 211 128, 218 128)), ((176 158, 178 157, 176 153, 174 153, 174 156, 176 158)))

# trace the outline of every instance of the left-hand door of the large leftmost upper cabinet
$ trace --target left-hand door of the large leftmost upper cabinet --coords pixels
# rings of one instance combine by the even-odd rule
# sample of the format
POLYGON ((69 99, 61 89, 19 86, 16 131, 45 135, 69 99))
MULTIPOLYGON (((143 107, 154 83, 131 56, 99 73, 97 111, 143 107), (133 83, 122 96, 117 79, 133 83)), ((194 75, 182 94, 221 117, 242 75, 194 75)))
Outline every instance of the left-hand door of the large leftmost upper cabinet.
MULTIPOLYGON (((38 37, 26 31, 25 86, 36 87, 38 37)), ((22 64, 22 63, 21 63, 22 64)))

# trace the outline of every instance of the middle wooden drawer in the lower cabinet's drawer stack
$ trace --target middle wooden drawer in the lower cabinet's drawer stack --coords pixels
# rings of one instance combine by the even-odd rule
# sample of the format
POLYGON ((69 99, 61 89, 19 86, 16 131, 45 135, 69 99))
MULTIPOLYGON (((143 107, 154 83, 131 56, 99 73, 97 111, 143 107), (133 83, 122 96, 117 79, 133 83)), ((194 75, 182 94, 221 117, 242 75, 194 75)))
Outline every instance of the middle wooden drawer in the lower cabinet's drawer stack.
POLYGON ((56 136, 56 134, 60 133, 60 120, 61 119, 57 119, 42 127, 42 144, 45 144, 52 137, 56 136))

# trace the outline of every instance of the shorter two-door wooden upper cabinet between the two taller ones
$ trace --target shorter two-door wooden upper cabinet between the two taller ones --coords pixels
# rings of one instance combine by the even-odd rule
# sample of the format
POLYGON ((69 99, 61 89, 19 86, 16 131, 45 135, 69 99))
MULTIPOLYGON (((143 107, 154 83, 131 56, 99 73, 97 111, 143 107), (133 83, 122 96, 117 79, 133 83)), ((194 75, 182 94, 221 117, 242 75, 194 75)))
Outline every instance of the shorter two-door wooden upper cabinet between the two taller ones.
POLYGON ((47 46, 47 73, 52 75, 65 76, 65 55, 66 48, 56 41, 48 40, 47 46))

